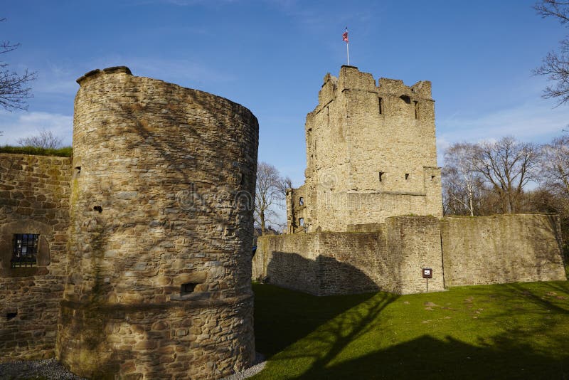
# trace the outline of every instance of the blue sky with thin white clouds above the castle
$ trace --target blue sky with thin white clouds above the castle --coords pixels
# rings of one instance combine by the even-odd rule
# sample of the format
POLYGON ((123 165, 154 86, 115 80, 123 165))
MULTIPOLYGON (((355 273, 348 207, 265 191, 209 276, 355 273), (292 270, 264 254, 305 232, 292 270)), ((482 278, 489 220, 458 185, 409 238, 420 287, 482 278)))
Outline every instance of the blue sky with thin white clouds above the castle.
MULTIPOLYGON (((543 100, 531 70, 566 29, 534 1, 4 1, 0 39, 21 43, 11 68, 38 72, 28 112, 0 111, 0 144, 46 128, 70 144, 75 79, 127 65, 228 97, 260 122, 260 161, 304 180, 304 118, 322 78, 346 63, 375 78, 431 80, 438 153, 513 134, 547 142, 569 106, 543 100)), ((442 161, 440 161, 442 164, 442 161)))

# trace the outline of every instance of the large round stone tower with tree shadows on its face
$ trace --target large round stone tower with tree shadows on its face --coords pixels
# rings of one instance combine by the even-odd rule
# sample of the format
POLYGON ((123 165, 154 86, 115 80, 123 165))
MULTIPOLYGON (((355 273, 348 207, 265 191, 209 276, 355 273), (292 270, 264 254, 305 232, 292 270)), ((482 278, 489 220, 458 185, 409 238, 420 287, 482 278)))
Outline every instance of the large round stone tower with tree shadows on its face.
POLYGON ((249 366, 257 119, 125 67, 78 83, 58 359, 93 379, 249 366))

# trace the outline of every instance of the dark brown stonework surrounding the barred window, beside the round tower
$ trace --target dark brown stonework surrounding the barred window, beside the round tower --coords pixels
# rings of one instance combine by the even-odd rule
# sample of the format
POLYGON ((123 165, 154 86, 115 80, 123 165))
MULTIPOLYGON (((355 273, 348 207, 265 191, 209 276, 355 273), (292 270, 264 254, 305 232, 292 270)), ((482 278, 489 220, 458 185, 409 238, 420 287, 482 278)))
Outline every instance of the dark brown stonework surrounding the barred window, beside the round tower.
POLYGON ((0 362, 55 354, 70 178, 70 158, 0 154, 0 362), (39 235, 37 265, 11 268, 16 233, 39 235))

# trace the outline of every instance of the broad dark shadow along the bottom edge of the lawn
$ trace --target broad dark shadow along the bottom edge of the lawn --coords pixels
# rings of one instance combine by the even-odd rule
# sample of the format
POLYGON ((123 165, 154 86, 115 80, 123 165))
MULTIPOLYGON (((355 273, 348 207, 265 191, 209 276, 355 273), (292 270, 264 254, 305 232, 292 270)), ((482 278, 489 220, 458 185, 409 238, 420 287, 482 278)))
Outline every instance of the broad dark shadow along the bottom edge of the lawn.
POLYGON ((568 379, 569 357, 554 359, 508 339, 474 347, 429 336, 333 366, 312 367, 297 379, 568 379))

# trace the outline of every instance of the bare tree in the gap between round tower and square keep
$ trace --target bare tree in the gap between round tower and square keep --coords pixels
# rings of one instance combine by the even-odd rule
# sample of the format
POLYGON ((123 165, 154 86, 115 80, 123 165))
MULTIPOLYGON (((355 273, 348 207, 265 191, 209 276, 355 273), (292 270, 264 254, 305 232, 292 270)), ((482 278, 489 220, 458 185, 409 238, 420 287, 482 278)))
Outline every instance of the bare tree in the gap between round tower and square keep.
POLYGON ((275 206, 282 200, 283 179, 276 167, 266 162, 257 164, 257 186, 255 189, 255 223, 265 235, 267 223, 278 224, 275 206))

